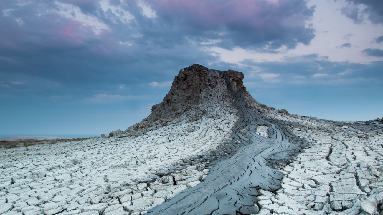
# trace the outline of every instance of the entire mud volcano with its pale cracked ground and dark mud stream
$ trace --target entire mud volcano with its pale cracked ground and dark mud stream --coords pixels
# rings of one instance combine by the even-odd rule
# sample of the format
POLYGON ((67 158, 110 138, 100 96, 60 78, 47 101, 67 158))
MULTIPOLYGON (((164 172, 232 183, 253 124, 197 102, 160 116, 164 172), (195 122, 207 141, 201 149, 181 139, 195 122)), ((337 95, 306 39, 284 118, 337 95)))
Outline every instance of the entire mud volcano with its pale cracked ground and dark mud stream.
POLYGON ((125 131, 0 150, 0 214, 382 212, 381 124, 277 111, 242 79, 193 65, 125 131))

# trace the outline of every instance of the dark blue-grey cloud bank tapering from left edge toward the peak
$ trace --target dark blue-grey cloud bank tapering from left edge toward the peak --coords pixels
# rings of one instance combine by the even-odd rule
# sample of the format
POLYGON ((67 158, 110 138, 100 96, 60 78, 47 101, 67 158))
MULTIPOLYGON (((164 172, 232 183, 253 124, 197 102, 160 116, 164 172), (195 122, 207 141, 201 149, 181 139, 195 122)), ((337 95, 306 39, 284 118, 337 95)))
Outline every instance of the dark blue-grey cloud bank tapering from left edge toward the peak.
POLYGON ((166 47, 138 38, 128 41, 131 46, 121 44, 130 34, 123 24, 100 26, 100 32, 95 32, 92 23, 63 16, 58 6, 49 2, 2 5, 7 7, 15 10, 0 20, 1 72, 24 73, 68 85, 116 83, 121 78, 135 83, 146 81, 148 75, 160 78, 158 70, 214 59, 196 54, 199 48, 185 42, 166 47))

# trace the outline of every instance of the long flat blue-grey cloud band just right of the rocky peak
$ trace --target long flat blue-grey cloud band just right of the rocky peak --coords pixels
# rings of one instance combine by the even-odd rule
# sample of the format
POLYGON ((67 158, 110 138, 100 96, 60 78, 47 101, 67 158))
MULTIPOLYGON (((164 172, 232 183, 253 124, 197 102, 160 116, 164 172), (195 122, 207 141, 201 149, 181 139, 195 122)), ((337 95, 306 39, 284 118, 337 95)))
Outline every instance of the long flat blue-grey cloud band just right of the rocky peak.
MULTIPOLYGON (((383 61, 370 62, 370 64, 360 64, 351 62, 333 62, 326 57, 316 55, 295 56, 286 58, 283 61, 255 62, 254 60, 244 60, 241 66, 236 68, 243 71, 246 82, 257 83, 257 86, 268 86, 271 88, 295 88, 300 86, 316 87, 321 85, 348 85, 355 83, 356 80, 363 80, 379 83, 383 81, 381 77, 381 67, 383 61), (311 60, 305 60, 310 56, 311 60), (255 72, 253 72, 255 71, 255 72), (267 79, 257 77, 259 73, 278 74, 280 85, 270 85, 267 79), (253 75, 252 75, 253 74, 253 75)), ((235 68, 231 66, 231 68, 235 68)), ((360 83, 360 86, 362 82, 360 83)))

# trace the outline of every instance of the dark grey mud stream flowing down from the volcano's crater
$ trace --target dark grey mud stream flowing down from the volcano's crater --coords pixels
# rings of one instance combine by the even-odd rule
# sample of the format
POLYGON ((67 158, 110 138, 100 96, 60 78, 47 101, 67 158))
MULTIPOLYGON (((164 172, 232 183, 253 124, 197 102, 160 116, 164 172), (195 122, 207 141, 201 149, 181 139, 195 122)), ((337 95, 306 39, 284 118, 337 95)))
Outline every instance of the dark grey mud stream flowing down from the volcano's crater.
POLYGON ((150 214, 165 215, 236 215, 254 214, 259 211, 254 204, 257 189, 275 191, 280 188, 282 173, 274 166, 295 156, 307 142, 296 137, 282 122, 270 119, 246 108, 241 93, 232 88, 228 73, 221 72, 233 105, 239 110, 240 119, 232 129, 232 136, 244 144, 225 160, 216 161, 203 182, 176 195, 151 210, 150 214), (257 126, 268 127, 269 138, 255 133, 257 126), (246 134, 240 130, 246 129, 246 134))

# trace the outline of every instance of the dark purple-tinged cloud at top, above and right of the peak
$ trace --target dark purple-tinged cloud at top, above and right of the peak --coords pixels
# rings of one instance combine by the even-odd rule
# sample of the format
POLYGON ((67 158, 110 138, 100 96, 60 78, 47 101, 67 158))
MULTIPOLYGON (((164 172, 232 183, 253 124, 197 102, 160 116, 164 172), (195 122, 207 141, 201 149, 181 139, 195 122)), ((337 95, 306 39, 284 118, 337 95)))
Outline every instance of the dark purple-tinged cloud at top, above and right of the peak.
POLYGON ((315 6, 308 8, 305 1, 150 2, 172 34, 181 33, 201 42, 219 40, 215 45, 225 48, 294 48, 298 43, 309 44, 315 36, 314 29, 305 26, 315 6))

